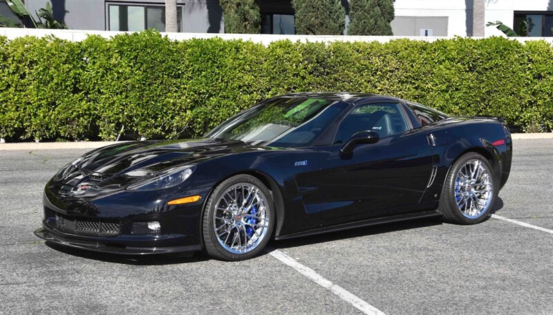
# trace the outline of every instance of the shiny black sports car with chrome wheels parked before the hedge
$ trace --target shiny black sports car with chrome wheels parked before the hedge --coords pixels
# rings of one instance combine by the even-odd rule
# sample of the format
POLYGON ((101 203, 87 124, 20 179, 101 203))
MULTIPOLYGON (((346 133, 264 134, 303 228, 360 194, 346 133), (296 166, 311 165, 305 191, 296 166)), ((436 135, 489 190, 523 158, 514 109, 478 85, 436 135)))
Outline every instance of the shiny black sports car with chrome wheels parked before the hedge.
POLYGON ((121 254, 251 258, 270 238, 443 216, 482 222, 511 168, 503 120, 395 97, 267 99, 203 139, 86 153, 44 189, 40 238, 121 254))

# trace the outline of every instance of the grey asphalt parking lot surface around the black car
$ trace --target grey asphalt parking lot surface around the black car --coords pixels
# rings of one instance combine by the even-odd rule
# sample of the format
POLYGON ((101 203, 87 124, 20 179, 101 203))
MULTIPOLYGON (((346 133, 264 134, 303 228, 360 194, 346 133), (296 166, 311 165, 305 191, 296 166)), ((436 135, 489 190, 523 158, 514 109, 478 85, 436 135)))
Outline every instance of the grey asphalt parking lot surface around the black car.
MULTIPOLYGON (((46 245, 41 191, 85 149, 0 151, 0 314, 362 314, 274 255, 114 256, 46 245)), ((553 314, 553 140, 515 140, 496 215, 272 241, 385 314, 553 314)))

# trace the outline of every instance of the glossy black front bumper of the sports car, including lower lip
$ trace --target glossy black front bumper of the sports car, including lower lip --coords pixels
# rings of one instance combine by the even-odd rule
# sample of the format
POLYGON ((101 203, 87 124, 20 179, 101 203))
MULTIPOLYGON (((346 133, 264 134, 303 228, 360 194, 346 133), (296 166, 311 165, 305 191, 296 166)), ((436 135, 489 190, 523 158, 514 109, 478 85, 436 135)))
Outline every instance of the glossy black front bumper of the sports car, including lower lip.
POLYGON ((198 202, 167 206, 166 200, 148 193, 78 198, 53 193, 47 186, 44 220, 35 235, 67 247, 113 254, 198 251, 207 189, 199 192, 202 198, 198 202), (159 232, 144 233, 133 228, 135 222, 152 221, 159 222, 159 232))

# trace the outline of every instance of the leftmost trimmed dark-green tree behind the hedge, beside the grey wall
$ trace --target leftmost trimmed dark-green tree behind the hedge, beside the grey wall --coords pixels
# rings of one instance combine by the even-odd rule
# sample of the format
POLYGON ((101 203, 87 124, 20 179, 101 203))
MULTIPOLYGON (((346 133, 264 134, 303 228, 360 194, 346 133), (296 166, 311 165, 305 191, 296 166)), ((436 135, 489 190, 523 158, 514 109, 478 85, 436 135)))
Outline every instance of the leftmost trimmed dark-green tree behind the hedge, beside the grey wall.
POLYGON ((220 0, 223 8, 225 32, 234 34, 259 34, 261 12, 256 0, 220 0))

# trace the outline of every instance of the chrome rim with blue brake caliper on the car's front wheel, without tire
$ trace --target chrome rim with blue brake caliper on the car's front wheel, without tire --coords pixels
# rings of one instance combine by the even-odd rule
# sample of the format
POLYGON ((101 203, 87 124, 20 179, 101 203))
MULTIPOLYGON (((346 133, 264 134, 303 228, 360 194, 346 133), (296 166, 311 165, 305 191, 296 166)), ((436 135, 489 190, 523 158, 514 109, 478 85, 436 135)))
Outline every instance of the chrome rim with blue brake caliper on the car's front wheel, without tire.
POLYGON ((217 240, 233 254, 255 249, 267 236, 270 211, 263 191, 241 182, 229 187, 215 204, 213 227, 217 240))

